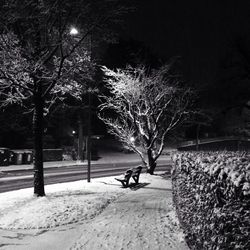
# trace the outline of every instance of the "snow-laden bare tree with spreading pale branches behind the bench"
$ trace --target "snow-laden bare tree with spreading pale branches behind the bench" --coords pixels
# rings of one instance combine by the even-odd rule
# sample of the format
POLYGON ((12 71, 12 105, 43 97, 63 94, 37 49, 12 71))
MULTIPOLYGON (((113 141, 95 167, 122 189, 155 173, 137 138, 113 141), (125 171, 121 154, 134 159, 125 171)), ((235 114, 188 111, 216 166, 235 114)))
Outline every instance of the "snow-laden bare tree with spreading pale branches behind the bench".
POLYGON ((102 96, 99 117, 111 134, 140 156, 150 174, 166 136, 190 115, 192 91, 181 86, 171 66, 152 72, 143 66, 117 71, 103 67, 111 96, 102 96))

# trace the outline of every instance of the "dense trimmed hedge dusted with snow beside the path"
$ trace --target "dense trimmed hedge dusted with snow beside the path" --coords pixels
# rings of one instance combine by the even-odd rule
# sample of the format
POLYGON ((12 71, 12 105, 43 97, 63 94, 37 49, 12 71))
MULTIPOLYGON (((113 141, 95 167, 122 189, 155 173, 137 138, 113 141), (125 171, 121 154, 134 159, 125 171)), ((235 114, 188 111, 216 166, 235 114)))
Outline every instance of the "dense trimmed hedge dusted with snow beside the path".
POLYGON ((173 156, 173 199, 190 249, 250 249, 250 155, 173 156))

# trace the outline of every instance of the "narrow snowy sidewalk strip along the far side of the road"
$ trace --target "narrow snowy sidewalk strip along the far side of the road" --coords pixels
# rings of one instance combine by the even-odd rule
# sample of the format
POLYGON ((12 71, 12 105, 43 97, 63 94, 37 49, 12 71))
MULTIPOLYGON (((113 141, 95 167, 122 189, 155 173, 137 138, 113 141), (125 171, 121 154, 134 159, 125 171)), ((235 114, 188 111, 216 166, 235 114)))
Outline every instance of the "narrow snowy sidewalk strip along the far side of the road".
MULTIPOLYGON (((159 158, 159 162, 166 161, 169 159, 170 159, 169 156, 162 155, 159 158)), ((138 162, 138 161, 140 161, 140 158, 135 153, 103 152, 100 153, 100 158, 98 160, 92 160, 91 164, 104 164, 104 163, 115 164, 121 162, 138 162)), ((44 162, 44 168, 58 168, 65 166, 84 166, 84 165, 87 165, 87 160, 84 160, 83 162, 78 162, 78 161, 44 162)), ((0 172, 24 170, 24 169, 33 169, 33 164, 0 166, 0 172)))

